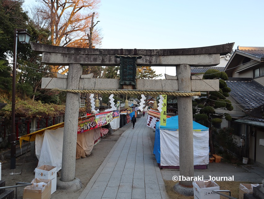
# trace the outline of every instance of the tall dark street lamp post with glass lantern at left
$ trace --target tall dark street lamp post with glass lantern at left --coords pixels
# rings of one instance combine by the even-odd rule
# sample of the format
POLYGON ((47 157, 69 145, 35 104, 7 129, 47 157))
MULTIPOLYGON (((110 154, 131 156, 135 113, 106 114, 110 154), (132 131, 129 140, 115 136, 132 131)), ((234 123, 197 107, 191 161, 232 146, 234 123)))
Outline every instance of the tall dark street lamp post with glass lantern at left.
POLYGON ((22 44, 29 44, 31 35, 27 32, 27 29, 15 29, 14 30, 14 54, 13 54, 13 77, 12 77, 12 128, 10 136, 10 168, 15 169, 15 74, 16 74, 16 49, 17 49, 17 37, 22 44))

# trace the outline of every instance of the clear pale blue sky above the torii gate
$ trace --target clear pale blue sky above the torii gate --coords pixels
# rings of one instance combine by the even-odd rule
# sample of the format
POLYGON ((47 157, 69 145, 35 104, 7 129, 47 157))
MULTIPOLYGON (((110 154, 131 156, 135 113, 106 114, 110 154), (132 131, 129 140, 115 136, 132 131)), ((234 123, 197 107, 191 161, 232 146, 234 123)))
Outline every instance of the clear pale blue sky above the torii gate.
MULTIPOLYGON (((25 5, 30 2, 34 0, 25 0, 25 5)), ((177 49, 231 42, 236 49, 264 46, 263 7, 263 0, 101 0, 96 21, 105 49, 177 49)), ((157 70, 161 71, 165 67, 157 70)))

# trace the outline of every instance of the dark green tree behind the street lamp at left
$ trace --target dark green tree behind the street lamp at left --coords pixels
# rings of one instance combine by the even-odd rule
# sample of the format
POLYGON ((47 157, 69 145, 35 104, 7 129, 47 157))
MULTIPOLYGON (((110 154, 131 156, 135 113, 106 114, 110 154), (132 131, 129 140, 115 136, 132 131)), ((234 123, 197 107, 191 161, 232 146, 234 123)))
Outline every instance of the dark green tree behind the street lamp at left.
MULTIPOLYGON (((14 29, 27 29, 32 35, 31 41, 37 43, 50 44, 50 31, 39 28, 34 21, 30 20, 27 13, 22 9, 23 1, 20 0, 0 0, 0 28, 3 30, 0 42, 0 56, 7 58, 7 67, 0 73, 0 89, 11 97, 11 67, 13 66, 12 55, 14 46, 14 29), (3 44, 3 45, 2 45, 3 44)), ((0 58, 1 59, 1 58, 0 58)), ((22 73, 17 73, 16 95, 20 99, 45 99, 45 92, 41 91, 40 85, 42 77, 51 76, 50 66, 43 64, 42 57, 31 50, 28 44, 17 44, 17 68, 22 73)), ((53 96, 53 95, 52 95, 53 96)), ((45 101, 44 101, 45 102, 45 101)))

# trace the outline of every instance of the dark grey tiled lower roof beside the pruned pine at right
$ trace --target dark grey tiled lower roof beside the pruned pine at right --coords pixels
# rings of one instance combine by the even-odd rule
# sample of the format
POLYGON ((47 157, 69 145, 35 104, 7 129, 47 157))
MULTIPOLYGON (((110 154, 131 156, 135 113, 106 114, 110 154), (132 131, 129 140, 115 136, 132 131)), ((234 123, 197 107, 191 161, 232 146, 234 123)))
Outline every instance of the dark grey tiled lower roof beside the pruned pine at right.
POLYGON ((231 96, 245 109, 264 104, 264 87, 254 81, 226 81, 231 96))

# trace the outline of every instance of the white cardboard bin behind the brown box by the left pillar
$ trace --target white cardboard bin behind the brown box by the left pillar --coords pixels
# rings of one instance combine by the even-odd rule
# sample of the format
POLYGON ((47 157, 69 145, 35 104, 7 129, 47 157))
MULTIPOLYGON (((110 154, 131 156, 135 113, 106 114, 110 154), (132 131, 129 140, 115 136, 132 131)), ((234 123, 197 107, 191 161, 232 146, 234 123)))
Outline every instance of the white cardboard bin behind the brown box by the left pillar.
POLYGON ((57 167, 43 165, 35 169, 35 178, 51 179, 51 194, 56 191, 57 187, 57 167))

